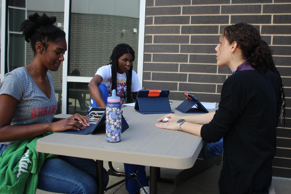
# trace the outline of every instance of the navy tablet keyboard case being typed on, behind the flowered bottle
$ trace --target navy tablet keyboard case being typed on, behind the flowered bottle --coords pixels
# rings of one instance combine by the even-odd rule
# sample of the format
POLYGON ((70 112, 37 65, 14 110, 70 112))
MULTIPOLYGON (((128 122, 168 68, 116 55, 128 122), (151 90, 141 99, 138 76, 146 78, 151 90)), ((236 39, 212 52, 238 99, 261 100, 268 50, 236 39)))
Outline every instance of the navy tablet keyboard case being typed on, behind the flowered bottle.
MULTIPOLYGON (((76 131, 73 129, 68 129, 65 131, 58 131, 57 133, 68 133, 68 134, 81 134, 81 135, 88 135, 88 134, 93 134, 96 129, 104 129, 102 127, 105 126, 105 122, 106 122, 106 111, 104 111, 104 113, 102 114, 102 116, 100 117, 100 119, 97 122, 90 122, 90 126, 86 127, 85 129, 80 129, 80 131, 76 131)), ((123 115, 121 115, 121 133, 123 133, 126 129, 128 129, 128 124, 125 120, 125 118, 123 117, 123 115)), ((105 131, 105 130, 104 130, 105 131)))

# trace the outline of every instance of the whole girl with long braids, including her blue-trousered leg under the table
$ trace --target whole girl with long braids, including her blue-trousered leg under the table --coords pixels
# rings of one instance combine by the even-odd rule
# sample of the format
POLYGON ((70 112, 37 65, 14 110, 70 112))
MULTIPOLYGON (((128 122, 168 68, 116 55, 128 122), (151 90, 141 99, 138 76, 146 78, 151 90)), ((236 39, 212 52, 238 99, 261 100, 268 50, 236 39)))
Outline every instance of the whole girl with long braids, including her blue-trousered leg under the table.
MULTIPOLYGON (((106 107, 107 97, 111 96, 113 89, 117 91, 117 95, 123 102, 127 100, 127 103, 132 103, 133 99, 136 100, 137 91, 141 90, 141 86, 136 72, 132 70, 134 58, 134 50, 127 44, 118 44, 113 49, 110 63, 100 67, 88 84, 92 96, 89 109, 106 107)), ((137 165, 124 163, 125 177, 129 177, 136 168, 137 165)), ((139 167, 137 178, 149 193, 145 166, 139 167)), ((129 194, 144 193, 136 179, 126 181, 125 188, 129 194)))

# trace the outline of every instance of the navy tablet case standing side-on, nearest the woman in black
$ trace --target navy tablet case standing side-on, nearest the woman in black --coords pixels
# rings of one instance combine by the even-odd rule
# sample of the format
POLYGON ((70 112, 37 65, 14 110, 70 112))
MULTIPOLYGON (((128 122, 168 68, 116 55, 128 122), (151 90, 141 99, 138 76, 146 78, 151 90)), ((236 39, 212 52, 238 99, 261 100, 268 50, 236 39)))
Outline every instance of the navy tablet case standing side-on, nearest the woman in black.
POLYGON ((208 113, 209 111, 199 102, 199 100, 192 94, 183 92, 187 97, 177 108, 182 113, 208 113), (196 105, 197 108, 192 108, 196 105))

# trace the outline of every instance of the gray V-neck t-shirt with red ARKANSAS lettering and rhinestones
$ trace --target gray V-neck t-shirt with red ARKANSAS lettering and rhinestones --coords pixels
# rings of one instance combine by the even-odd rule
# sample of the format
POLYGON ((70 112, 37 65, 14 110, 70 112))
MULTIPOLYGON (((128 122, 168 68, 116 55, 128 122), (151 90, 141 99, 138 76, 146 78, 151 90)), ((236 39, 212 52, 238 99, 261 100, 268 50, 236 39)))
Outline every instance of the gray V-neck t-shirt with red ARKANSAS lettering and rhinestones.
MULTIPOLYGON (((47 72, 51 86, 48 98, 34 83, 28 71, 19 67, 5 75, 0 84, 0 95, 9 94, 19 100, 11 125, 31 125, 52 122, 57 101, 52 76, 47 72)), ((13 142, 2 142, 9 145, 13 142)))

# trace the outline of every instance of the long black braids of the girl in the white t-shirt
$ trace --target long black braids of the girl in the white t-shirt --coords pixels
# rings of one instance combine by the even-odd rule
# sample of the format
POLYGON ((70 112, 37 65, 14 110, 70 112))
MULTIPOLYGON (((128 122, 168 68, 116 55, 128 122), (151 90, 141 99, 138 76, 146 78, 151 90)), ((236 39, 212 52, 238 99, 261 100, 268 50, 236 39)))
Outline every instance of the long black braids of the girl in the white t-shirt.
MULTIPOLYGON (((130 53, 132 55, 132 59, 134 61, 134 50, 131 46, 122 43, 116 45, 116 47, 112 51, 112 55, 110 56, 110 63, 108 65, 111 65, 111 76, 112 76, 112 86, 111 91, 113 89, 117 90, 117 65, 118 65, 118 58, 123 56, 124 54, 130 53)), ((132 81, 132 67, 130 67, 129 71, 127 72, 126 76, 126 95, 127 95, 127 103, 132 103, 133 97, 131 93, 131 81, 132 81)))

